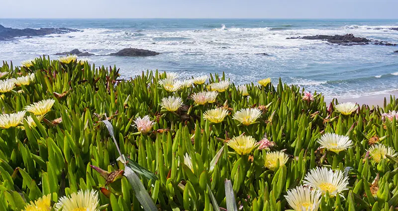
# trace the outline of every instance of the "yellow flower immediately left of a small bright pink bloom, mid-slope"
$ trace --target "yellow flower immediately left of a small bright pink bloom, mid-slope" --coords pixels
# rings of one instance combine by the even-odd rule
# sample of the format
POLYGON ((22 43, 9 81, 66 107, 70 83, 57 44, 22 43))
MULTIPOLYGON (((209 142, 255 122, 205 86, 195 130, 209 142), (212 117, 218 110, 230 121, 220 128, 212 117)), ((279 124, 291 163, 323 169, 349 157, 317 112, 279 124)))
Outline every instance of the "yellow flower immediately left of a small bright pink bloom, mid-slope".
POLYGON ((235 150, 237 154, 249 154, 258 146, 258 142, 251 136, 234 137, 227 142, 227 145, 235 150))

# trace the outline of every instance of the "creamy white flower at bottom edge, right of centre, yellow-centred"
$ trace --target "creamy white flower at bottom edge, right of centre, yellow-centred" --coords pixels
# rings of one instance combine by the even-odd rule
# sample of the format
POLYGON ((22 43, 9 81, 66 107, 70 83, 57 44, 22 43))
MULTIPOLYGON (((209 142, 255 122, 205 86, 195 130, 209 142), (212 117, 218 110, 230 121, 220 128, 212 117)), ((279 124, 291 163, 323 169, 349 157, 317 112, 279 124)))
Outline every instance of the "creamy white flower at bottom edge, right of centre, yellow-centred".
POLYGON ((295 211, 317 211, 322 193, 309 187, 298 186, 290 189, 285 196, 289 206, 295 211))

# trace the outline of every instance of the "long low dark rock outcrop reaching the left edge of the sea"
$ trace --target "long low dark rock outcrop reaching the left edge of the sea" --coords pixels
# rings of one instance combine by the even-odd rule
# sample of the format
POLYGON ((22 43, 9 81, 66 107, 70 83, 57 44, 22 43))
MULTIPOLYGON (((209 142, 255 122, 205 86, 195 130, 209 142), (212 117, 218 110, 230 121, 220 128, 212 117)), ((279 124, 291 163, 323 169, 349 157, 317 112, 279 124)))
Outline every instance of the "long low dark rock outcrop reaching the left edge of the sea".
POLYGON ((68 28, 13 29, 13 28, 6 28, 0 25, 0 40, 8 40, 14 37, 23 37, 23 36, 44 36, 48 34, 65 34, 69 32, 78 32, 78 31, 81 30, 68 29, 68 28))

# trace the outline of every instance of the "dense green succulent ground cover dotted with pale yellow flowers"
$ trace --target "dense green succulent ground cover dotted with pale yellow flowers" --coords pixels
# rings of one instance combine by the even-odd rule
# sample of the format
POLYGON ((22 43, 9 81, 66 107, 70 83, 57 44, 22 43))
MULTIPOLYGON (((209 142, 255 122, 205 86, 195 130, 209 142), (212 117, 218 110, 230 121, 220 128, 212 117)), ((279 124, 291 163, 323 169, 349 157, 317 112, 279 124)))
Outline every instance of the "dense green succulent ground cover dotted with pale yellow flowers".
POLYGON ((269 79, 122 80, 74 57, 0 76, 1 211, 398 205, 395 97, 369 108, 269 79))

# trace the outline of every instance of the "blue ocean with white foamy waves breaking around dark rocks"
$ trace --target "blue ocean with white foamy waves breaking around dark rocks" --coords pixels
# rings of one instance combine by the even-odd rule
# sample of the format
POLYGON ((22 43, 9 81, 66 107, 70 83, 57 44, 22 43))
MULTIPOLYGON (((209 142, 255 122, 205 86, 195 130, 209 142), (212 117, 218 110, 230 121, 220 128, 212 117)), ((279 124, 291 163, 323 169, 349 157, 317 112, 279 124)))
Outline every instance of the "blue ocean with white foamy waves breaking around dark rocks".
POLYGON ((120 68, 123 78, 143 70, 174 71, 180 79, 224 71, 235 84, 278 78, 326 97, 358 97, 398 89, 398 46, 341 46, 286 39, 344 35, 398 43, 398 20, 305 19, 0 19, 12 28, 84 30, 0 41, 0 61, 14 64, 79 49, 106 55, 123 48, 161 53, 153 57, 91 56, 96 66, 120 68), (259 55, 266 53, 269 56, 259 55))

